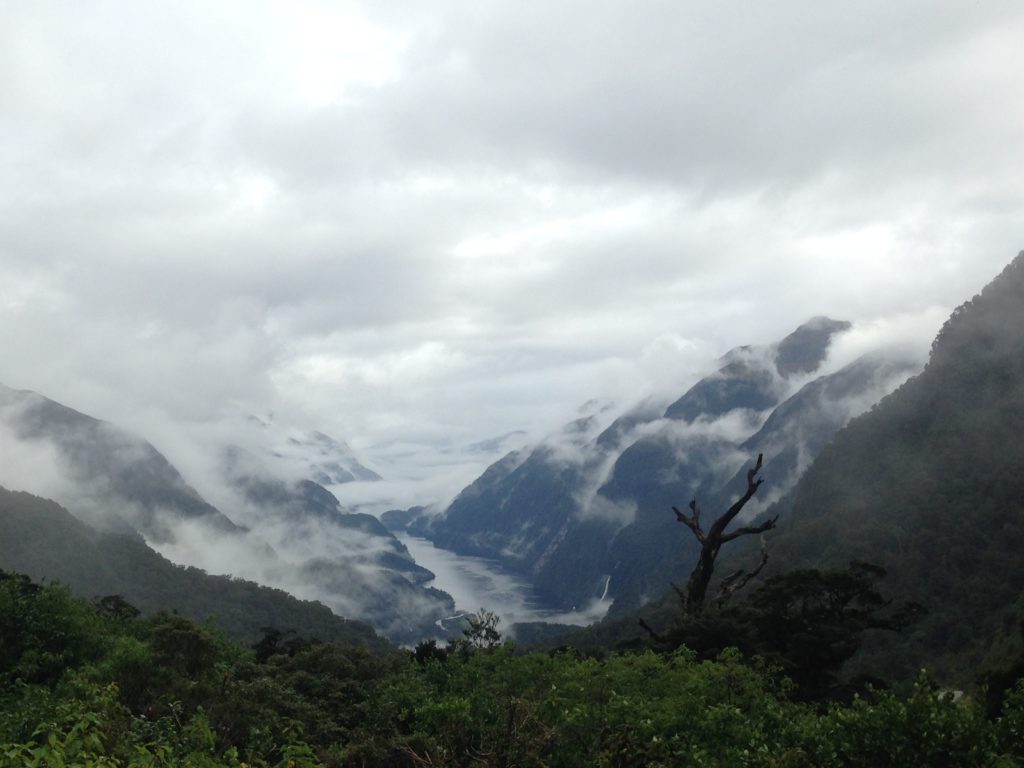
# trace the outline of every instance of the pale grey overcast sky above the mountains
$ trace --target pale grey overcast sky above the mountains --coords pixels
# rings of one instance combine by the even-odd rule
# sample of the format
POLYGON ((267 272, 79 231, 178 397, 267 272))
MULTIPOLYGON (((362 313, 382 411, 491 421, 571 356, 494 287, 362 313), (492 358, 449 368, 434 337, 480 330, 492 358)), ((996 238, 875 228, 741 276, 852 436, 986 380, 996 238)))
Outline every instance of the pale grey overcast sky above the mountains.
POLYGON ((1016 0, 5 3, 0 381, 400 474, 811 315, 931 336, 1024 248, 1022 40, 1016 0))

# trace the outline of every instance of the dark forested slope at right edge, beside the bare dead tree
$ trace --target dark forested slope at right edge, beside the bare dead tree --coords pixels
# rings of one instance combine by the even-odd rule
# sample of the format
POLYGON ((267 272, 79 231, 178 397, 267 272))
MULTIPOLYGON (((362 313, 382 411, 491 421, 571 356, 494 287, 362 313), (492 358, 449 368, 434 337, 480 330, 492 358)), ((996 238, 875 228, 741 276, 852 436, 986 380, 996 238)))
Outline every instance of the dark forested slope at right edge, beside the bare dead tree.
POLYGON ((886 591, 929 611, 868 649, 893 673, 1005 657, 1024 617, 1022 435, 1024 254, 953 312, 920 376, 821 452, 775 510, 770 568, 885 567, 886 591))

